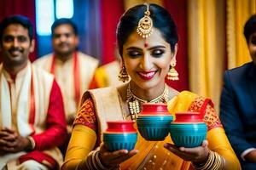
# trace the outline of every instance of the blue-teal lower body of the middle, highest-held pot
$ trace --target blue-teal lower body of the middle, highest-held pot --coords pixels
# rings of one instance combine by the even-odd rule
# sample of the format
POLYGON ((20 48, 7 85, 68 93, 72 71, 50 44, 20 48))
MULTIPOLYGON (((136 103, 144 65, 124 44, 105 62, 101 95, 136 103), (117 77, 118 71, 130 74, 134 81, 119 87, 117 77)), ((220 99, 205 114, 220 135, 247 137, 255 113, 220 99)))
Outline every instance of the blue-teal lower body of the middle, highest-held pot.
POLYGON ((161 141, 169 133, 173 116, 138 116, 137 129, 144 139, 161 141))

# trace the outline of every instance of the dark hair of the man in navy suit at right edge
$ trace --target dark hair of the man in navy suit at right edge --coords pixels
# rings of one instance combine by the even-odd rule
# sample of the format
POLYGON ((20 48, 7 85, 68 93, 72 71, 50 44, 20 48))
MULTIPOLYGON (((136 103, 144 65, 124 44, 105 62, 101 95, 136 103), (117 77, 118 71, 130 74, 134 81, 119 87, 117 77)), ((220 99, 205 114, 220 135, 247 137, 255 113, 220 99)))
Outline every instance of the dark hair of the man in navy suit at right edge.
POLYGON ((247 20, 244 28, 243 28, 243 35, 247 39, 247 43, 249 42, 250 36, 256 32, 256 14, 253 14, 249 20, 247 20))

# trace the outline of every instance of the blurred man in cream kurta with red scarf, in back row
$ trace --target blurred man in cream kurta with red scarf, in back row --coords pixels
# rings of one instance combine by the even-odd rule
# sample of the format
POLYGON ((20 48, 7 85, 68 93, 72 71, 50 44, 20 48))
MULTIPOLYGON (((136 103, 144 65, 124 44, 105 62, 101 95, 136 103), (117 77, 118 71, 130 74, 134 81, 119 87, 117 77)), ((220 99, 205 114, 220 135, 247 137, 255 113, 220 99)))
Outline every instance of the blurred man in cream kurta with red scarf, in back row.
POLYGON ((71 127, 80 98, 90 88, 98 60, 77 50, 78 29, 72 20, 55 20, 51 30, 54 52, 34 64, 55 75, 64 98, 67 124, 71 127))

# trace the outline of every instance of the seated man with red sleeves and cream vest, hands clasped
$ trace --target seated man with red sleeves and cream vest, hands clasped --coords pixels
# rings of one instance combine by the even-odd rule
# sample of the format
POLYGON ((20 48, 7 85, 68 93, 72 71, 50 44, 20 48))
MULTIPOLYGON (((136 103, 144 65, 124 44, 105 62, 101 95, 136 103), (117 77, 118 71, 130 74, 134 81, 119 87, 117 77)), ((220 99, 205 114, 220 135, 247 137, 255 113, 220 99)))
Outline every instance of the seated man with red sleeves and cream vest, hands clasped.
POLYGON ((0 23, 0 169, 57 169, 67 137, 61 90, 28 59, 33 26, 14 15, 0 23))

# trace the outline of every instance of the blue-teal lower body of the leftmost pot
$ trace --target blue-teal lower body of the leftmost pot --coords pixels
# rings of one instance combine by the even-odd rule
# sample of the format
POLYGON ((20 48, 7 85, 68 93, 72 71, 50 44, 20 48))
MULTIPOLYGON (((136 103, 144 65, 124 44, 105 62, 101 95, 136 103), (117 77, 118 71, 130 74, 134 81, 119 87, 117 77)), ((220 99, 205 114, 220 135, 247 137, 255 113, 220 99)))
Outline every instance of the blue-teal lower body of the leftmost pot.
POLYGON ((137 133, 103 133, 103 142, 109 151, 133 150, 137 133))

